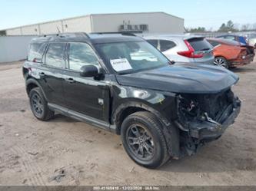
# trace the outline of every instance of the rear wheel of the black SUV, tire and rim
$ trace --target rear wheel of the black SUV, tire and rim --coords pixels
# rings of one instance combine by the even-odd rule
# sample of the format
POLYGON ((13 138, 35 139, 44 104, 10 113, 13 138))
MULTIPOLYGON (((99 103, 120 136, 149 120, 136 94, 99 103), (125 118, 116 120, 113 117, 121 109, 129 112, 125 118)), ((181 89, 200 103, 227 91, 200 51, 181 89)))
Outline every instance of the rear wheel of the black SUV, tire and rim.
POLYGON ((28 96, 32 113, 38 120, 50 120, 54 116, 54 111, 49 109, 39 87, 33 88, 28 96))

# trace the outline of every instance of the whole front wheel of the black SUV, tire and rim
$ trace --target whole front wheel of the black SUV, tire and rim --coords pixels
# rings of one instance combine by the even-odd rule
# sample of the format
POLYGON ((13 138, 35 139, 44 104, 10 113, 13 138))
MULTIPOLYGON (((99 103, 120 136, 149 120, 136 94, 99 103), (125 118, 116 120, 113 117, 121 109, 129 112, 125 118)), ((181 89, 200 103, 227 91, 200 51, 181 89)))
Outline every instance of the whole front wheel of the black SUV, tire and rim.
POLYGON ((162 125, 147 111, 125 118, 121 124, 121 141, 128 156, 141 166, 154 169, 170 159, 162 125))

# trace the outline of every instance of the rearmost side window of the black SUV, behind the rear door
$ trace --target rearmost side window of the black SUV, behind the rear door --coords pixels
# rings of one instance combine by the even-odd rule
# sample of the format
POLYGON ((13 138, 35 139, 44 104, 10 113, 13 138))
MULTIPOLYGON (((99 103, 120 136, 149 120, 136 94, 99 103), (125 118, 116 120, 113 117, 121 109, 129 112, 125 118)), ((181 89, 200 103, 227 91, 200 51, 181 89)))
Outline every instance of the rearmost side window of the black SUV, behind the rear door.
POLYGON ((30 44, 28 61, 42 62, 42 55, 45 52, 47 43, 30 44))

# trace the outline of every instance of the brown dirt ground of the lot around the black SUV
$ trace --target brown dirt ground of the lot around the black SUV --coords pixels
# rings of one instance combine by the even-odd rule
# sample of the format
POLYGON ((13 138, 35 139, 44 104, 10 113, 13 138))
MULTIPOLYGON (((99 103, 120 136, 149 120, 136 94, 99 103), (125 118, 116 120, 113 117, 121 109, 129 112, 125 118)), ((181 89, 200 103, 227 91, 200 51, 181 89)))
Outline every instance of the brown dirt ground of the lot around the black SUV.
POLYGON ((36 120, 22 64, 0 64, 0 185, 256 185, 256 62, 233 71, 241 114, 223 137, 158 170, 135 164, 120 138, 58 115, 36 120))

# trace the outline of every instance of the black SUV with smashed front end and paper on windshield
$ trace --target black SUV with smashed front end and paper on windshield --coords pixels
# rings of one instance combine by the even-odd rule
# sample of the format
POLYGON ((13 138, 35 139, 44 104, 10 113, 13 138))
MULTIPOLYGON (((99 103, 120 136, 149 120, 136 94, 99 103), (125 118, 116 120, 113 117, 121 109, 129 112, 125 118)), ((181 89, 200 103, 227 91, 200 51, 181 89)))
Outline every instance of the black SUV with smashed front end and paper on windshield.
POLYGON ((171 64, 128 33, 35 38, 23 75, 38 120, 64 114, 121 134, 131 159, 149 168, 221 137, 241 105, 231 71, 171 64))

